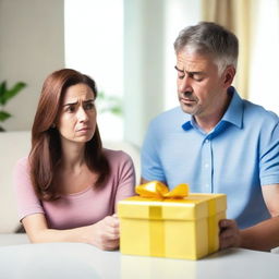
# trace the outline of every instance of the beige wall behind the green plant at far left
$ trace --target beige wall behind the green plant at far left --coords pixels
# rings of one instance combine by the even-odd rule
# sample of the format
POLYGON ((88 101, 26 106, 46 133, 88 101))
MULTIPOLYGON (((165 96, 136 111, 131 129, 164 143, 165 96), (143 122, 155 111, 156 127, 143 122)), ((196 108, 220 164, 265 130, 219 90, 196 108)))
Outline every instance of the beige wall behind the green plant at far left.
POLYGON ((46 76, 64 66, 63 0, 0 0, 0 81, 27 87, 5 106, 5 130, 32 128, 46 76))

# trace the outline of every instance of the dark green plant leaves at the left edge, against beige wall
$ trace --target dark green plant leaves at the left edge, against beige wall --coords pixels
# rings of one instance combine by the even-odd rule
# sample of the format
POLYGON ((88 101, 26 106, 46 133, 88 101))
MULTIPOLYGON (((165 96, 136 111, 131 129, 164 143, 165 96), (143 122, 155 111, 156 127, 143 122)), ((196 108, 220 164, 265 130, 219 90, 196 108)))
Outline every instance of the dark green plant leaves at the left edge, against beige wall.
MULTIPOLYGON (((15 83, 10 89, 7 86, 7 81, 0 83, 0 122, 4 122, 12 114, 4 110, 7 102, 17 95, 26 86, 23 82, 15 83)), ((0 125, 0 132, 4 129, 0 125)))

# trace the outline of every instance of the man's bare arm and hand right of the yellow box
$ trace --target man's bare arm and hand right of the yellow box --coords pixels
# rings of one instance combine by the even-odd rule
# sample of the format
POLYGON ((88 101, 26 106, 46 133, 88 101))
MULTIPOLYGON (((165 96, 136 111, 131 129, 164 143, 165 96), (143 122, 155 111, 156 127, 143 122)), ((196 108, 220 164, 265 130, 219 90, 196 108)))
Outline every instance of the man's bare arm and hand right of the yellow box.
POLYGON ((239 230, 234 220, 220 221, 220 248, 240 246, 270 251, 279 246, 279 184, 262 186, 270 219, 244 230, 239 230))

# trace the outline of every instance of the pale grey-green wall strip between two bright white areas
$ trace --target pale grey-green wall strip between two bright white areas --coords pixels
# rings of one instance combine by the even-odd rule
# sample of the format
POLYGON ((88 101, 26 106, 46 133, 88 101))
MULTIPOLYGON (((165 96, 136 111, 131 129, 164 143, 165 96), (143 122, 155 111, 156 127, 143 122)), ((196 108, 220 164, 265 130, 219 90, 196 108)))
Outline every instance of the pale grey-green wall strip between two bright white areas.
POLYGON ((124 0, 124 138, 141 146, 163 108, 163 1, 124 0))

